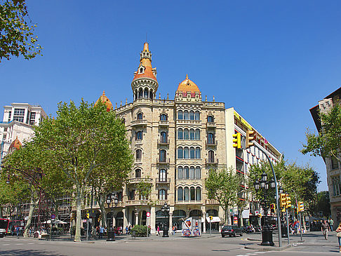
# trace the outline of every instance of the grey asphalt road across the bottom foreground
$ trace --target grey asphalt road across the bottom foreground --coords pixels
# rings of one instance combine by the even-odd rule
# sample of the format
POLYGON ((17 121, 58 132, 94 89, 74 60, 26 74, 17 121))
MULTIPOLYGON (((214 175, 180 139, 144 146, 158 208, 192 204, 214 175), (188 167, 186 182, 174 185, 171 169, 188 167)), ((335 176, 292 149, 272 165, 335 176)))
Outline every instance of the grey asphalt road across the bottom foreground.
MULTIPOLYGON (((74 243, 72 241, 41 241, 34 238, 0 238, 0 255, 8 256, 47 256, 47 255, 335 255, 338 253, 337 238, 330 236, 325 241, 320 234, 304 237, 306 245, 297 245, 284 251, 262 252, 246 250, 245 245, 257 242, 249 238, 260 238, 259 234, 243 237, 222 238, 218 234, 203 238, 152 238, 153 240, 119 240, 114 242, 95 241, 74 243), (328 243, 327 243, 328 242, 328 243)), ((296 240, 298 238, 296 237, 296 240)), ((274 238, 275 241, 275 238, 274 238)))

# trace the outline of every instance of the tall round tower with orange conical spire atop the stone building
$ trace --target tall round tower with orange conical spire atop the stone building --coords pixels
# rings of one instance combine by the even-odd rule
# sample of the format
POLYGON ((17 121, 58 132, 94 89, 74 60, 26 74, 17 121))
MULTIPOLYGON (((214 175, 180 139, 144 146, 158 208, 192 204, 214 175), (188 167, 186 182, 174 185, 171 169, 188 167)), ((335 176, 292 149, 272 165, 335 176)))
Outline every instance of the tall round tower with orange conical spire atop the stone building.
POLYGON ((138 71, 134 72, 134 79, 131 82, 134 100, 142 98, 153 100, 158 87, 156 68, 152 67, 152 53, 149 51, 149 44, 146 42, 140 53, 138 71))

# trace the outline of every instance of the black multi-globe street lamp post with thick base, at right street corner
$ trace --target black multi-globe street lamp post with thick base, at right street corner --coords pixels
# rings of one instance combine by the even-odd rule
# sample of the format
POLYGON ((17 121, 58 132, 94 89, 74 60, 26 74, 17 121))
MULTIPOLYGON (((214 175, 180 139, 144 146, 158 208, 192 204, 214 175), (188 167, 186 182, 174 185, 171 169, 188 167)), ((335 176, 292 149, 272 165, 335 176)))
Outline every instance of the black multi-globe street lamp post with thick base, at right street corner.
POLYGON ((264 194, 264 200, 261 203, 264 210, 264 223, 262 227, 262 243, 260 243, 260 245, 274 246, 274 241, 272 241, 272 228, 269 226, 269 219, 267 217, 267 212, 269 210, 267 191, 269 190, 269 185, 272 189, 274 189, 276 187, 276 182, 274 181, 274 179, 267 181, 267 174, 262 173, 261 179, 259 181, 256 180, 253 185, 255 187, 255 191, 262 189, 264 194))

